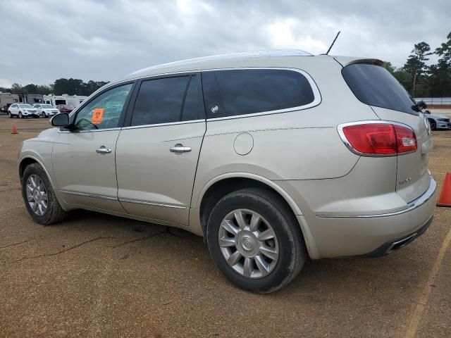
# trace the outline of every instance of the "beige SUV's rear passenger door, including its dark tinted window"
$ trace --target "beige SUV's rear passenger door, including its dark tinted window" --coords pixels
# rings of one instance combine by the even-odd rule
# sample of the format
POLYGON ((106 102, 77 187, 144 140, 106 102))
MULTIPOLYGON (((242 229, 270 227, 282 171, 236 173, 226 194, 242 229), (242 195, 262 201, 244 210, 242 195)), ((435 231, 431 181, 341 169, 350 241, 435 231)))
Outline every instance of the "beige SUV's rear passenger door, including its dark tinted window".
POLYGON ((116 146, 119 201, 132 215, 188 225, 206 130, 200 75, 154 77, 139 86, 116 146))

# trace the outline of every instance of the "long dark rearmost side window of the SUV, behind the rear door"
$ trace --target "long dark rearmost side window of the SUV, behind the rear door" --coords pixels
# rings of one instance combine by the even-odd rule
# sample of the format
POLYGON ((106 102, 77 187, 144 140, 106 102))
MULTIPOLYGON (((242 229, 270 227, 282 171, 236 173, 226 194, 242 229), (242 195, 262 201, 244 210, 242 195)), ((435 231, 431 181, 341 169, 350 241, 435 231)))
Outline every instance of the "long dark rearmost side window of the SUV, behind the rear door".
POLYGON ((209 118, 278 111, 311 104, 309 80, 294 70, 218 70, 202 74, 209 118))

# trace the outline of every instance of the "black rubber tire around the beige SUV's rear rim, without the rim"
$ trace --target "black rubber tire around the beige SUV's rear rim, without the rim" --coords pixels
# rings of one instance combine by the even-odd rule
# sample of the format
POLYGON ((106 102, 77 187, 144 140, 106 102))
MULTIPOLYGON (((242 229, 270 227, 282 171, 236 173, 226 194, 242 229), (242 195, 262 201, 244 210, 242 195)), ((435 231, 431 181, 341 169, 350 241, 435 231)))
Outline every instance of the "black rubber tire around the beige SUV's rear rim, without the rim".
POLYGON ((278 194, 266 189, 240 189, 224 196, 211 211, 206 228, 206 242, 216 266, 230 282, 241 289, 259 294, 274 292, 288 284, 301 270, 307 258, 299 223, 278 194), (259 213, 276 234, 279 256, 276 266, 265 277, 251 278, 237 273, 221 253, 218 234, 222 220, 236 209, 259 213))

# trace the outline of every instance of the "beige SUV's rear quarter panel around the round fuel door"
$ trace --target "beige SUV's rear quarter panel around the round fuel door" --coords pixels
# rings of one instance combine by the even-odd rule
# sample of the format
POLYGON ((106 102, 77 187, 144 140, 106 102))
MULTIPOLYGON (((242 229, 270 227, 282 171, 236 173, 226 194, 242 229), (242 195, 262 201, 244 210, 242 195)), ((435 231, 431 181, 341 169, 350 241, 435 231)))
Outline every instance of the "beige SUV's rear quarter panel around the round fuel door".
MULTIPOLYGON (((377 119, 359 102, 341 76, 341 65, 328 56, 274 58, 255 67, 297 68, 309 74, 321 93, 318 106, 300 111, 223 120, 207 120, 206 134, 194 183, 192 208, 215 177, 253 173, 268 180, 319 180, 342 177, 359 156, 340 140, 340 123, 377 119), (240 155, 234 142, 239 134, 252 136, 252 150, 240 155)), ((247 67, 243 64, 240 66, 247 67)))

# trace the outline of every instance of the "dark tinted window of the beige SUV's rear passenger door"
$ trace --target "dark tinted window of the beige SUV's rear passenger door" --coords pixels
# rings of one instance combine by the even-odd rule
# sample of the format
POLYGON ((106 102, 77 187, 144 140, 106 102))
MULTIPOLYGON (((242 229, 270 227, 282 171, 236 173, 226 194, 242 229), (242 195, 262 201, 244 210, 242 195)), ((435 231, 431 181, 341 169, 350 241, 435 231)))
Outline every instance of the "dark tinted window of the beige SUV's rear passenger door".
POLYGON ((143 81, 132 114, 132 126, 201 118, 197 78, 163 77, 143 81))

